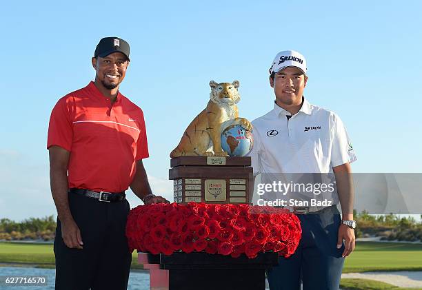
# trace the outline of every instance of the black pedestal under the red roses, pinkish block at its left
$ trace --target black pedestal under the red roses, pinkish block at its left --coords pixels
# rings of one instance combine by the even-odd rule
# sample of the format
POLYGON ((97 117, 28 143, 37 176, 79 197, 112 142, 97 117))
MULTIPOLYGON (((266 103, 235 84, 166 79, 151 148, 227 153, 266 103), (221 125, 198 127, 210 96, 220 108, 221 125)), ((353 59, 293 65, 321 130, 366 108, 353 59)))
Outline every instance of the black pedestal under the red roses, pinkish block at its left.
POLYGON ((239 258, 209 253, 138 253, 150 270, 151 290, 265 290, 265 269, 279 263, 278 253, 239 258))

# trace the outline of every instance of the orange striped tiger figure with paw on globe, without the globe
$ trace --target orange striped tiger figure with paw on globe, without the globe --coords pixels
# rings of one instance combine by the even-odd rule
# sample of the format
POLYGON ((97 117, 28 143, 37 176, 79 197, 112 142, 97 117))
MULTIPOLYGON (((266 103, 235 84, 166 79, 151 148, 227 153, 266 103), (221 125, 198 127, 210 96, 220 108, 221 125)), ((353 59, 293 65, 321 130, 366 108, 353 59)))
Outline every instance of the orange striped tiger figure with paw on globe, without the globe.
POLYGON ((221 132, 230 125, 242 125, 252 130, 252 124, 239 118, 237 103, 240 95, 239 81, 216 83, 210 81, 210 101, 186 128, 179 145, 170 153, 170 158, 178 156, 228 156, 221 148, 221 132))

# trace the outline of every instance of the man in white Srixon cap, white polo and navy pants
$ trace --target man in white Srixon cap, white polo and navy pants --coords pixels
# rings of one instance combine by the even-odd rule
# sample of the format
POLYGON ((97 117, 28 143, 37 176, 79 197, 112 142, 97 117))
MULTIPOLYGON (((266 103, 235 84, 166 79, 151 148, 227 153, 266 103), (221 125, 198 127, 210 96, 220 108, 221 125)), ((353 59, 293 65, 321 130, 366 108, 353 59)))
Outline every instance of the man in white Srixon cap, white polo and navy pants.
POLYGON ((300 289, 301 280, 305 290, 339 289, 344 258, 354 249, 350 163, 356 156, 339 116, 303 97, 307 81, 303 55, 279 52, 270 68, 274 109, 252 122, 254 146, 249 156, 254 176, 262 174, 270 183, 271 176, 302 174, 308 180, 321 174, 335 176, 336 183, 331 205, 287 206, 301 220, 302 238, 297 251, 290 258, 280 257, 279 265, 268 272, 272 290, 300 289), (339 202, 342 216, 336 208, 339 202))

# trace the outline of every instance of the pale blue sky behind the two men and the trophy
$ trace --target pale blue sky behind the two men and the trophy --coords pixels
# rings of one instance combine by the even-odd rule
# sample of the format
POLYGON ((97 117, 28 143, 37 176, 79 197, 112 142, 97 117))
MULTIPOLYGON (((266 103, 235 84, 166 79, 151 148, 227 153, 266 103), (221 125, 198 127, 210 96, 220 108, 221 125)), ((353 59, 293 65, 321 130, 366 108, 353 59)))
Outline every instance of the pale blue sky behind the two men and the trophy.
MULTIPOLYGON (((420 1, 8 1, 0 52, 0 218, 55 214, 48 118, 94 78, 101 37, 130 43, 121 92, 142 107, 157 194, 172 196, 168 154, 208 102, 210 80, 240 81, 240 115, 272 108, 281 50, 308 61, 305 96, 341 116, 355 172, 421 172, 420 1)), ((139 204, 130 198, 132 207, 139 204)))

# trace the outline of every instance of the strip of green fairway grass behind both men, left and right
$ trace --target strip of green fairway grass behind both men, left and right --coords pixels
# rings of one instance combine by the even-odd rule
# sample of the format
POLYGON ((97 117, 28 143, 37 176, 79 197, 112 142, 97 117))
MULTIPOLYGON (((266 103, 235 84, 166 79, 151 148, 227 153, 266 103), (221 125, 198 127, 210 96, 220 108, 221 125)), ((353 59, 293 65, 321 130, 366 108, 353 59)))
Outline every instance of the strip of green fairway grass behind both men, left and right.
MULTIPOLYGON (((16 263, 54 267, 52 245, 0 242, 0 264, 16 263)), ((132 253, 132 269, 142 269, 132 253)), ((365 271, 422 271, 422 245, 357 242, 345 260, 343 273, 365 271)))

